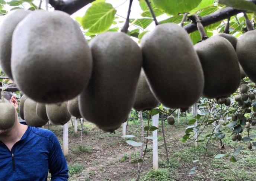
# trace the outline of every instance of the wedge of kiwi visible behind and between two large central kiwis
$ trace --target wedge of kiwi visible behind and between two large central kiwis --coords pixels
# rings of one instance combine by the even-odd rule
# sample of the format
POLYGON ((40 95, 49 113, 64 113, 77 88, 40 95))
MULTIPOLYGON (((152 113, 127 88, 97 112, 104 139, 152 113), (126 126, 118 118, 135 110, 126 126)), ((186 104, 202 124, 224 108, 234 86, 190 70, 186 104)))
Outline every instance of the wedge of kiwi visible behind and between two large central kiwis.
POLYGON ((159 104, 159 101, 151 92, 144 70, 141 70, 140 78, 137 85, 134 109, 138 111, 151 110, 159 104))

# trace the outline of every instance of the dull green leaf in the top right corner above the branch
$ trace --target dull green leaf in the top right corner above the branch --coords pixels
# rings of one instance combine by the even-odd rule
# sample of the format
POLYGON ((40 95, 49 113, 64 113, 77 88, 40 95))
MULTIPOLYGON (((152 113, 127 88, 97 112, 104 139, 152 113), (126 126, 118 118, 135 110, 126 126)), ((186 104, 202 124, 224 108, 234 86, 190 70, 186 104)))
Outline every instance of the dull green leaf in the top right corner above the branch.
POLYGON ((256 12, 256 5, 246 0, 219 0, 219 3, 240 10, 256 12))

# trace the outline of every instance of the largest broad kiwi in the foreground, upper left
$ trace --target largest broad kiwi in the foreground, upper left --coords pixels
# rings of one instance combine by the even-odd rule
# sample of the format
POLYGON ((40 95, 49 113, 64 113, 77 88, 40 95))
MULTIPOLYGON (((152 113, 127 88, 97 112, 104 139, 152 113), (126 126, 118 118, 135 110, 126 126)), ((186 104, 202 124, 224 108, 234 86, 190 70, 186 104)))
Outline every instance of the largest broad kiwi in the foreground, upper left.
POLYGON ((39 103, 58 103, 76 97, 86 87, 92 54, 69 14, 35 10, 13 32, 11 68, 17 86, 28 97, 39 103))

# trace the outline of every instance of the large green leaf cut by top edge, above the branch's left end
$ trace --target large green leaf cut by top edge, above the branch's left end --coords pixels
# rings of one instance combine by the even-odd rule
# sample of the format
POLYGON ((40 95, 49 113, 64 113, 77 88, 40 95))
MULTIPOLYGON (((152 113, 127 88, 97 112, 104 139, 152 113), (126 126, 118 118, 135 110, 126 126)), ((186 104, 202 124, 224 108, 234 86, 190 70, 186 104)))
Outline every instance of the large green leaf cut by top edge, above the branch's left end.
POLYGON ((153 0, 156 7, 168 14, 177 15, 189 12, 201 3, 202 0, 153 0))

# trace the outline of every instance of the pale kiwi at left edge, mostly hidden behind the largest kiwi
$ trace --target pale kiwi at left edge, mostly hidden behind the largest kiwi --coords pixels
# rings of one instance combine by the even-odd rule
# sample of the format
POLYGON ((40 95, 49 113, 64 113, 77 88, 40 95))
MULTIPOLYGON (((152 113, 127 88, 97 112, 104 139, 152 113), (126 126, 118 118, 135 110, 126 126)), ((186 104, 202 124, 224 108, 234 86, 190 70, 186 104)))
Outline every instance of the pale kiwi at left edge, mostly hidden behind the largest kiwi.
POLYGON ((4 74, 12 77, 11 55, 12 55, 12 35, 18 23, 31 11, 18 9, 8 13, 0 25, 0 65, 4 74))

